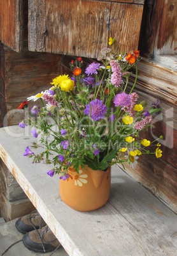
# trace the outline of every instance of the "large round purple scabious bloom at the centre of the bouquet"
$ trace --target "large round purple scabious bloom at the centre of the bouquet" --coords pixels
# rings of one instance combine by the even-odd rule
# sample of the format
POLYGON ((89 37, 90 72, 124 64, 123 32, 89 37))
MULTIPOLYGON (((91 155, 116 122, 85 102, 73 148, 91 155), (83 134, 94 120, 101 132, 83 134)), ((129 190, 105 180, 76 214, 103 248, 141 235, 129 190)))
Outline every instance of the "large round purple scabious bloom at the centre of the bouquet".
POLYGON ((90 115, 90 106, 91 106, 91 118, 94 121, 101 120, 104 118, 104 114, 107 112, 108 108, 103 104, 103 101, 96 99, 90 101, 90 104, 85 106, 84 114, 90 115))

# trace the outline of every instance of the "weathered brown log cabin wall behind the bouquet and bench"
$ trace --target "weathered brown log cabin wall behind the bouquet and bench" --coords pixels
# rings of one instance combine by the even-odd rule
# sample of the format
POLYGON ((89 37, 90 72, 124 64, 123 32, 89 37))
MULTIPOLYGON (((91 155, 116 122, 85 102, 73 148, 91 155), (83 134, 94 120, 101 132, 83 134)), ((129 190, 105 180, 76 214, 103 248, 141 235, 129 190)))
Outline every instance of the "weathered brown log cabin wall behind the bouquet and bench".
POLYGON ((177 213, 176 6, 177 0, 0 0, 1 126, 18 124, 19 104, 69 73, 73 56, 85 57, 87 65, 110 36, 124 51, 139 45, 136 90, 148 104, 160 101, 162 113, 148 134, 164 136, 163 157, 146 155, 136 170, 125 171, 177 213))

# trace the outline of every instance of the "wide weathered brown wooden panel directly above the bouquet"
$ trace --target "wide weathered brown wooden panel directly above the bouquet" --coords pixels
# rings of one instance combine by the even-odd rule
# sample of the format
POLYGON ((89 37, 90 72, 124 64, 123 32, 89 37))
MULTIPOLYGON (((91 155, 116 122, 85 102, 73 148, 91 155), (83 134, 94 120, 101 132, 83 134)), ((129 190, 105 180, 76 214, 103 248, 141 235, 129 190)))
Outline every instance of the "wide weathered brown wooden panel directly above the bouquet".
POLYGON ((120 42, 120 50, 134 50, 142 14, 143 4, 30 0, 29 50, 97 58, 110 36, 120 42))

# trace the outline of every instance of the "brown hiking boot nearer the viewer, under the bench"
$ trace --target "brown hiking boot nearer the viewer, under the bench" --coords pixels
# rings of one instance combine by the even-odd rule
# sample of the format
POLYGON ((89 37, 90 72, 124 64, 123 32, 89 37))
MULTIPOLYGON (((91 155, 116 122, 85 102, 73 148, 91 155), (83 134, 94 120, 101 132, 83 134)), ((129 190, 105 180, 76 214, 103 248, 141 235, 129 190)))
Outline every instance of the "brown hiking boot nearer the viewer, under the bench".
POLYGON ((61 246, 48 225, 25 234, 22 241, 27 249, 40 253, 52 252, 61 246))

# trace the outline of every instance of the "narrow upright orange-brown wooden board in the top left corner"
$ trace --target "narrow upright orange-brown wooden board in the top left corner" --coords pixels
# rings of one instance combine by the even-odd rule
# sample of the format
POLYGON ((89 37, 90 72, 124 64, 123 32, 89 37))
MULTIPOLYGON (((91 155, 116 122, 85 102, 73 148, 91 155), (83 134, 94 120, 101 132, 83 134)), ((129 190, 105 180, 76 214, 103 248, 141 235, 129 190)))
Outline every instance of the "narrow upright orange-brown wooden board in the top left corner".
POLYGON ((20 52, 24 42, 24 1, 0 1, 0 40, 20 52))

